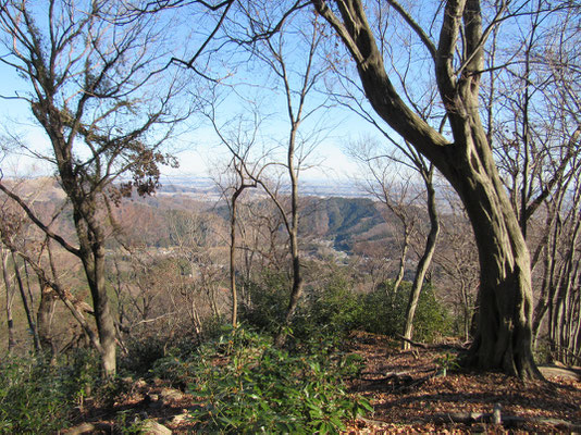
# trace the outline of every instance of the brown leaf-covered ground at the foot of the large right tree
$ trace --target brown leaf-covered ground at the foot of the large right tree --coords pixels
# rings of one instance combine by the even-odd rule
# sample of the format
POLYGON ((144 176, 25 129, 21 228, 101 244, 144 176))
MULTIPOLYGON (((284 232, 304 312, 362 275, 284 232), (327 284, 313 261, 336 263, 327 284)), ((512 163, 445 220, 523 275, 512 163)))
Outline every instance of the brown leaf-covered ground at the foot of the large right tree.
POLYGON ((436 376, 437 359, 453 353, 452 348, 400 351, 393 339, 361 332, 351 334, 349 347, 366 362, 360 378, 351 382, 351 390, 367 396, 375 410, 349 433, 581 431, 579 377, 545 372, 549 381, 545 383, 468 371, 436 376), (491 422, 495 406, 502 424, 491 422))

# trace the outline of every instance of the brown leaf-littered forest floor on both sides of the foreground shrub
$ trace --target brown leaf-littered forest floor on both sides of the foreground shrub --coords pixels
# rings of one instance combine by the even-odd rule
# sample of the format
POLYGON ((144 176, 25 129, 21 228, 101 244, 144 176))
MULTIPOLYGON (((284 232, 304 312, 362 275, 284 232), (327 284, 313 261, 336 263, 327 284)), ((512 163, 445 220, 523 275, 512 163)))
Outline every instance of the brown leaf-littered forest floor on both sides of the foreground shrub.
MULTIPOLYGON (((454 361, 453 347, 400 351, 393 339, 368 333, 351 334, 347 346, 364 359, 361 375, 349 381, 350 390, 368 397, 374 413, 350 422, 346 434, 581 432, 581 371, 543 369, 547 382, 463 370, 443 375, 445 361, 454 361), (495 408, 500 424, 493 423, 495 408)), ((83 432, 79 425, 69 433, 110 433, 107 427, 120 411, 147 415, 174 434, 195 433, 187 419, 196 406, 190 395, 163 382, 136 382, 131 390, 114 409, 86 403, 77 421, 94 422, 85 423, 92 430, 83 432)))

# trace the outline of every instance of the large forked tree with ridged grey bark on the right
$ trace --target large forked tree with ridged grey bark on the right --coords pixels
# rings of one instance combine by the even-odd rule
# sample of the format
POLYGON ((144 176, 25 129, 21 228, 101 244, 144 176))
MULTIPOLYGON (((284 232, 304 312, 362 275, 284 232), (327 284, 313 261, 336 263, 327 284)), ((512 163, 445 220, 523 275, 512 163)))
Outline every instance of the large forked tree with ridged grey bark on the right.
MULTIPOLYGON (((479 115, 482 17, 478 0, 448 0, 434 60, 440 96, 454 142, 425 123, 398 96, 383 64, 362 1, 336 0, 341 18, 314 1, 349 50, 374 111, 442 172, 460 196, 472 224, 481 266, 481 306, 469 363, 520 377, 542 377, 532 356, 530 259, 519 222, 500 183, 479 115), (455 53, 462 36, 462 73, 455 53)), ((412 29, 420 33, 418 28, 412 29)))

